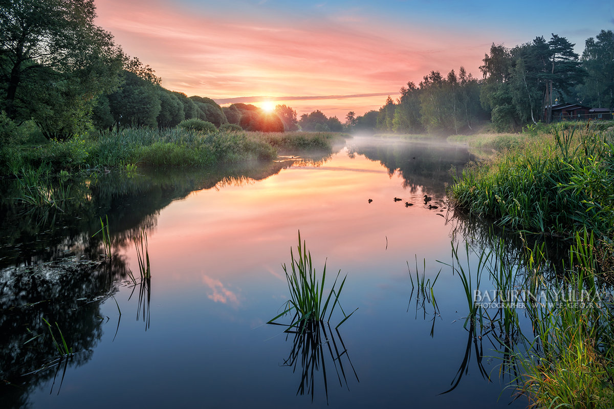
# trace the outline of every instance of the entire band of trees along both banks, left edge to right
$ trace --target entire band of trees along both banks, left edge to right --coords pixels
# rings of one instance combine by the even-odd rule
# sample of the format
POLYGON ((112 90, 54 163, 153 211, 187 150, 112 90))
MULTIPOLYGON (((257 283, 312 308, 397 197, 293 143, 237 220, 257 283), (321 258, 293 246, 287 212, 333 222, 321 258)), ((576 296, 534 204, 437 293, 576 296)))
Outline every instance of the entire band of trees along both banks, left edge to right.
MULTIPOLYGON (((460 68, 431 71, 379 111, 344 123, 319 110, 301 115, 278 105, 268 113, 251 104, 221 107, 213 99, 163 88, 160 77, 126 55, 111 33, 94 23, 94 0, 0 0, 0 123, 33 120, 48 139, 91 129, 169 128, 185 120, 250 131, 376 130, 459 133, 481 120, 518 130, 551 119, 553 101, 614 108, 614 34, 586 40, 580 56, 553 34, 511 49, 492 44, 481 79, 460 68), (544 115, 545 112, 545 115, 544 115)), ((7 136, 2 136, 2 140, 7 136)))

